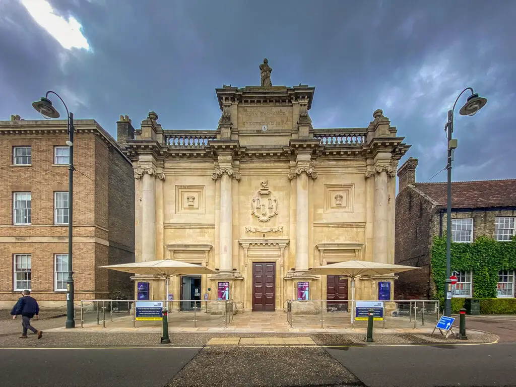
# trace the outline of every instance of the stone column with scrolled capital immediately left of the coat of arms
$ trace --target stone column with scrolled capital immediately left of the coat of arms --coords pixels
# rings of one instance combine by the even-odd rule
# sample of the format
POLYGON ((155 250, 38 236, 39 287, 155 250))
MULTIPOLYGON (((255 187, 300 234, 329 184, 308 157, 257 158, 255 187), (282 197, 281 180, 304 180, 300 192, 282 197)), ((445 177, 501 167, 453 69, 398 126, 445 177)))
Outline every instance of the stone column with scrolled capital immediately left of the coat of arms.
POLYGON ((233 198, 231 179, 240 179, 232 168, 217 168, 212 179, 220 178, 220 268, 219 274, 233 274, 233 198))

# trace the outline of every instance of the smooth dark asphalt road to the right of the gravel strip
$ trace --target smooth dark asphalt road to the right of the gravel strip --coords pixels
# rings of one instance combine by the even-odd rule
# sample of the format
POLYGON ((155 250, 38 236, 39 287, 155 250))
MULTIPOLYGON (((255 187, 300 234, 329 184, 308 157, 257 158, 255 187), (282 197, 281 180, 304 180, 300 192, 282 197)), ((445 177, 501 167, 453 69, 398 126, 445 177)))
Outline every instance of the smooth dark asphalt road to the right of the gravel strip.
POLYGON ((327 351, 368 387, 516 386, 516 343, 327 351))

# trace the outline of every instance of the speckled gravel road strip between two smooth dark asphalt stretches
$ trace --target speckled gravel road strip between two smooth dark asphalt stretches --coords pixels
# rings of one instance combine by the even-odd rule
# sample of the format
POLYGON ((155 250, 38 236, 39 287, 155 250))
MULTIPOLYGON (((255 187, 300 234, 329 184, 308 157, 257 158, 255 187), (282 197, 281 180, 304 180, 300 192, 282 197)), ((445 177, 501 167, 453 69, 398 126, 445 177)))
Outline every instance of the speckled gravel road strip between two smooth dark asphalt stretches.
POLYGON ((167 387, 364 386, 322 348, 229 347, 201 350, 167 387))

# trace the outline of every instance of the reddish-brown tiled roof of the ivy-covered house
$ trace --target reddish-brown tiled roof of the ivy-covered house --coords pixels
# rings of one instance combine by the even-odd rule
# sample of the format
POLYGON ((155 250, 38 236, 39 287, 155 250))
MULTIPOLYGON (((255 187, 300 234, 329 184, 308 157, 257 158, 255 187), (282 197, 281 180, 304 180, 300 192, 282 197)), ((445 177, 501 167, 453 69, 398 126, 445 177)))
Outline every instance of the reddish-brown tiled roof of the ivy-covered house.
MULTIPOLYGON (((416 183, 415 188, 446 207, 446 183, 416 183)), ((451 183, 452 208, 516 206, 516 179, 451 183)))

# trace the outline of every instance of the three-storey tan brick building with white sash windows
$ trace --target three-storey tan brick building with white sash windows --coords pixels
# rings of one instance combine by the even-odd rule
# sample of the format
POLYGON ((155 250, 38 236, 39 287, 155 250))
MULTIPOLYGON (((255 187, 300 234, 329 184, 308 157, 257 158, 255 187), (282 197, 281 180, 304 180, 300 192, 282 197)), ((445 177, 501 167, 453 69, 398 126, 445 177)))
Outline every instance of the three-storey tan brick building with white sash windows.
MULTIPOLYGON (((42 306, 66 307, 68 165, 66 120, 0 121, 0 308, 23 289, 42 306)), ((134 172, 94 120, 75 120, 75 300, 133 298, 130 275, 99 269, 134 262, 134 172)))

